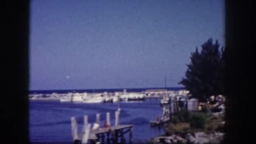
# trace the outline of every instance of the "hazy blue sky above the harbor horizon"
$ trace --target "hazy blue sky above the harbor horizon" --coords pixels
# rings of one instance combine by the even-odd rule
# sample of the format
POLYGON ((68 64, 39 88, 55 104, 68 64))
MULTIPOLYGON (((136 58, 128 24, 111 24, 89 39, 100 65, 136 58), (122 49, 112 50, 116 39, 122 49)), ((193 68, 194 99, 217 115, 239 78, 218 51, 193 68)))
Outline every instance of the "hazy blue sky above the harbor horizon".
POLYGON ((182 87, 224 0, 31 0, 29 89, 182 87))

